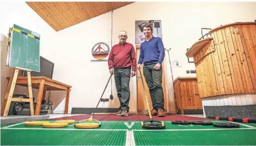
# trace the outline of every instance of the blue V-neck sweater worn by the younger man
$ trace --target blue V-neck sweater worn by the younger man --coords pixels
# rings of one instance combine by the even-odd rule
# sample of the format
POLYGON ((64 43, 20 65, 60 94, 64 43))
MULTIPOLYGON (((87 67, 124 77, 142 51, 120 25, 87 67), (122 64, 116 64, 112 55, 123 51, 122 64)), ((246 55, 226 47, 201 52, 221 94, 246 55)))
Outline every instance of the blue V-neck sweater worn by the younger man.
POLYGON ((140 45, 138 64, 151 65, 162 64, 164 60, 164 45, 159 37, 152 37, 149 41, 144 41, 140 45))

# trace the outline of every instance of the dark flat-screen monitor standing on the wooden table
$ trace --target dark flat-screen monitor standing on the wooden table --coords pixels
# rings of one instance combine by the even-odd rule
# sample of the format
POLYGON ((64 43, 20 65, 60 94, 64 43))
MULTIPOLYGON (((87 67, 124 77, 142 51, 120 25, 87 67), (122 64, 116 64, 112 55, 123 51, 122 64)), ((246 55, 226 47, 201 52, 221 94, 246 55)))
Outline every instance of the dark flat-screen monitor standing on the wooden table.
MULTIPOLYGON (((40 56, 40 72, 31 71, 31 77, 47 77, 53 79, 54 63, 40 56)), ((27 77, 27 72, 22 72, 27 77)))

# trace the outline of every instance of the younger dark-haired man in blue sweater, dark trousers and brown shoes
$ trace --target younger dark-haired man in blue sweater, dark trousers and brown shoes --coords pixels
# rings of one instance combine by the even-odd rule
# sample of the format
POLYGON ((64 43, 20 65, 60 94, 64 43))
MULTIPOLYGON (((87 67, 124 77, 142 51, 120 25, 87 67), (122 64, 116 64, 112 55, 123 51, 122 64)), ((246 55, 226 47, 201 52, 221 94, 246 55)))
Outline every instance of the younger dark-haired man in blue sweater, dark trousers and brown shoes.
MULTIPOLYGON (((143 28, 145 41, 140 45, 138 68, 143 63, 143 75, 149 87, 153 109, 151 115, 165 116, 164 94, 162 88, 162 62, 165 52, 161 38, 152 36, 152 27, 145 25, 143 28)), ((146 115, 149 115, 146 113, 146 115)))

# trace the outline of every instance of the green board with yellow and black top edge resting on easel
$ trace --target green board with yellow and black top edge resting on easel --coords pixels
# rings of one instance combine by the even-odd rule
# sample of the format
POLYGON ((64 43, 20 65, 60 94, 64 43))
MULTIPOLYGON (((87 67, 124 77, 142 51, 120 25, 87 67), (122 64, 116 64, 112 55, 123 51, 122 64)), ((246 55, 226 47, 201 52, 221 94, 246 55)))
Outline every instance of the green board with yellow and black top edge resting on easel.
POLYGON ((9 29, 6 66, 40 72, 40 34, 14 24, 9 29))

